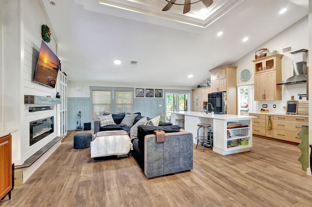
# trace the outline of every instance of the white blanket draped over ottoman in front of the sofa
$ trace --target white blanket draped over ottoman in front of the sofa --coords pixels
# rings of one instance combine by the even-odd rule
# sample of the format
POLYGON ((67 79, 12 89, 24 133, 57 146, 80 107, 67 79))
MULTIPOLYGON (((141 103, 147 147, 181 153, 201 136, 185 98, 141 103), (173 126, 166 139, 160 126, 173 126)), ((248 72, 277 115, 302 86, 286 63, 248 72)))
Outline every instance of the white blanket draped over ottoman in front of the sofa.
POLYGON ((112 135, 96 137, 90 143, 91 157, 101 157, 109 155, 126 155, 132 148, 132 143, 128 135, 112 135))

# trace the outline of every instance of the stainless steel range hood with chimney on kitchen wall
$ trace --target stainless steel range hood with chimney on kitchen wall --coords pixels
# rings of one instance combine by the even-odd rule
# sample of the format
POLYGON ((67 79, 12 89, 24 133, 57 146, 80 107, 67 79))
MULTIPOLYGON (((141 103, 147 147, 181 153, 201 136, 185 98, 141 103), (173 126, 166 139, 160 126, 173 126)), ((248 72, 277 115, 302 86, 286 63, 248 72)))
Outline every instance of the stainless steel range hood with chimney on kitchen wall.
POLYGON ((307 82, 307 52, 302 49, 291 52, 293 54, 293 76, 277 85, 303 84, 307 82))

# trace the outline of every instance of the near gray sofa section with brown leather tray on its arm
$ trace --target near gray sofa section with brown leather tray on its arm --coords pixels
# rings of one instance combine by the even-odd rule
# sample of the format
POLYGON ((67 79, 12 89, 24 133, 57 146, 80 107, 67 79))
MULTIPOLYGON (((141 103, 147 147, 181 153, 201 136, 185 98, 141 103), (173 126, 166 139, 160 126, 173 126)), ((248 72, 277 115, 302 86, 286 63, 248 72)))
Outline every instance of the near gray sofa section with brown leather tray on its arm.
POLYGON ((131 154, 136 158, 147 178, 193 169, 193 134, 184 130, 170 132, 178 128, 176 125, 138 126, 138 138, 133 139, 131 154), (156 142, 156 136, 146 132, 157 129, 167 132, 164 142, 156 142), (148 135, 142 139, 141 133, 143 136, 148 135))

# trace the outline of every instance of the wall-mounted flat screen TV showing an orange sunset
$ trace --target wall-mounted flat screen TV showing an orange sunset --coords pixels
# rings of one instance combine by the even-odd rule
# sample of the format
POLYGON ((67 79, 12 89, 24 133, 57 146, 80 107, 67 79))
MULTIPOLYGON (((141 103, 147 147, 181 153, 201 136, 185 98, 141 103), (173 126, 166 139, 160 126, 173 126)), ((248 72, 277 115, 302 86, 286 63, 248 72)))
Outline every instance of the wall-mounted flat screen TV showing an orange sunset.
POLYGON ((34 82, 55 88, 59 67, 59 58, 41 41, 38 63, 34 73, 34 82))

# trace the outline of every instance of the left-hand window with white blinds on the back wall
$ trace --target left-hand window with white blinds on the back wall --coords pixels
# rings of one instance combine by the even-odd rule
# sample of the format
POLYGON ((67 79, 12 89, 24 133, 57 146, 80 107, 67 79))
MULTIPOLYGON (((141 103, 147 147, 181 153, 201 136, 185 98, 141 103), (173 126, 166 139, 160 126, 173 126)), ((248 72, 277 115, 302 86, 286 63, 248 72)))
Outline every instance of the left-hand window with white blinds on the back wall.
POLYGON ((102 116, 103 113, 111 113, 112 109, 112 92, 110 90, 92 90, 92 120, 102 116))

